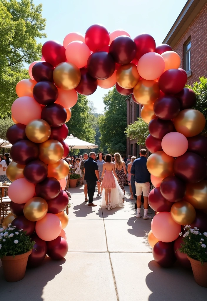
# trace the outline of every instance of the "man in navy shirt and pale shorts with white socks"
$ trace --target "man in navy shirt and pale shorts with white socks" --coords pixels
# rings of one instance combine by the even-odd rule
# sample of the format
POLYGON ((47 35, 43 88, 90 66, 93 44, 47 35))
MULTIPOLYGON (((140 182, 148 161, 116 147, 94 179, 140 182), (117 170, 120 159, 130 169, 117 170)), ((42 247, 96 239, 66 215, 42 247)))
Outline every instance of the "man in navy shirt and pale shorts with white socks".
POLYGON ((147 150, 142 148, 140 150, 140 158, 134 160, 131 166, 131 174, 135 175, 135 186, 137 196, 137 214, 136 217, 141 217, 141 196, 143 192, 144 197, 144 217, 143 219, 151 219, 152 216, 148 214, 148 195, 150 193, 150 172, 147 170, 147 150))

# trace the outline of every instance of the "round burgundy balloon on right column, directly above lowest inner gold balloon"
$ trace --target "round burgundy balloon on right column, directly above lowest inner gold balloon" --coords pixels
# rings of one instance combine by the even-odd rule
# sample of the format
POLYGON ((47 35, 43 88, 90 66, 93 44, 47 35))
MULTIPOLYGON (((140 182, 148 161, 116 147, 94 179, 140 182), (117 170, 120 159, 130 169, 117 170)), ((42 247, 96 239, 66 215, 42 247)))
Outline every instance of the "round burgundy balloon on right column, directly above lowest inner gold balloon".
POLYGON ((159 188, 162 196, 173 203, 181 201, 186 192, 185 183, 174 175, 164 178, 159 188))

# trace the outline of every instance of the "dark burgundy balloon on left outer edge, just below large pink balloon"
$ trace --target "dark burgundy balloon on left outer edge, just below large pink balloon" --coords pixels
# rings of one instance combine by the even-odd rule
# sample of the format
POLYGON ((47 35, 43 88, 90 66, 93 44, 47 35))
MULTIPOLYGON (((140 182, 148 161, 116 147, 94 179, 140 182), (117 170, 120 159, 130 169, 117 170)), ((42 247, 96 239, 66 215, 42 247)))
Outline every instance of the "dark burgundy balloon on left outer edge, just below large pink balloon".
POLYGON ((14 124, 13 126, 10 126, 10 128, 8 128, 6 133, 6 137, 9 143, 14 144, 20 140, 28 140, 25 134, 25 128, 26 125, 21 123, 17 123, 14 124))

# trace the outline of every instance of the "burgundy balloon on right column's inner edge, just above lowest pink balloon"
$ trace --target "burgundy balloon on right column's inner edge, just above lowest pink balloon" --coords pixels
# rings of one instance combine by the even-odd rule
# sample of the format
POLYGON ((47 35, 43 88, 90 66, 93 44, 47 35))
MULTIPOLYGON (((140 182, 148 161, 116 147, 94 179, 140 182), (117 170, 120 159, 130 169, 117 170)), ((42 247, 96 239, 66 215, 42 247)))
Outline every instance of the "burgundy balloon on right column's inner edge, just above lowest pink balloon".
POLYGON ((170 212, 172 207, 172 203, 162 196, 159 187, 156 187, 150 191, 148 195, 148 203, 150 207, 157 212, 170 212))

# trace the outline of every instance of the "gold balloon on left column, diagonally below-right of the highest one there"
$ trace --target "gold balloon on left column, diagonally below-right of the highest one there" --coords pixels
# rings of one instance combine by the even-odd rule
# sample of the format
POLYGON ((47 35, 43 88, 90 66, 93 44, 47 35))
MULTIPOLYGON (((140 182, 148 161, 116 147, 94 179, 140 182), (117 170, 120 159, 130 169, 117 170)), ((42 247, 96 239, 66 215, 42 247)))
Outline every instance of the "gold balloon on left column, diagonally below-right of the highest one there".
POLYGON ((39 144, 39 159, 45 164, 57 163, 63 157, 62 144, 54 139, 39 144))

